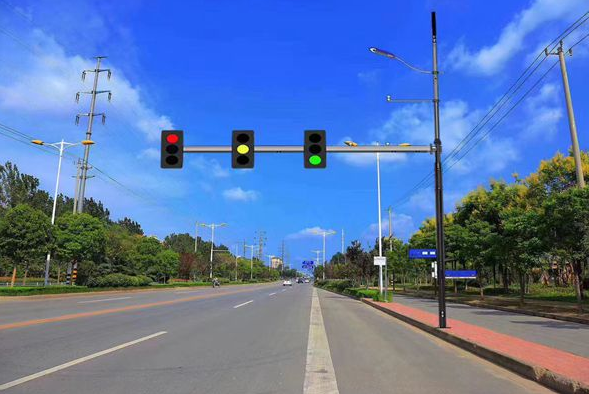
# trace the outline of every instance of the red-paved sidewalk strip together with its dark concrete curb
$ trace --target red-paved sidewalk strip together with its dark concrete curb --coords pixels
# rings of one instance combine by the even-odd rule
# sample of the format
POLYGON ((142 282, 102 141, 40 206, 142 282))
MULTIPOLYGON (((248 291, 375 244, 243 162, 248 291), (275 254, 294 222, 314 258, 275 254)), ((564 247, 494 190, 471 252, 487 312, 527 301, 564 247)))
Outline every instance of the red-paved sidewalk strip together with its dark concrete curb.
MULTIPOLYGON (((438 329, 437 313, 407 306, 397 300, 392 303, 362 301, 553 390, 567 394, 589 393, 587 357, 458 319, 448 319, 448 328, 438 329)), ((448 312, 448 315, 452 316, 452 313, 448 312)), ((554 329, 553 334, 557 341, 558 329, 554 329)), ((579 336, 576 342, 580 346, 583 341, 583 336, 579 336)))

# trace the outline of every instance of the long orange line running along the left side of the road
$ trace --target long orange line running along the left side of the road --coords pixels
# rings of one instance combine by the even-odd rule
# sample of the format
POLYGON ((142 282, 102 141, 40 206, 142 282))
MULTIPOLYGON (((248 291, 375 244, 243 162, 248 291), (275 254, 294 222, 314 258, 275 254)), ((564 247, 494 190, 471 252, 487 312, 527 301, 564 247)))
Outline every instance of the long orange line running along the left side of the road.
POLYGON ((55 322, 64 321, 64 320, 80 319, 83 317, 102 316, 102 315, 108 315, 111 313, 129 312, 129 311, 153 308, 153 307, 157 307, 157 306, 174 305, 174 304, 178 304, 181 302, 196 301, 196 300, 202 300, 202 299, 208 299, 208 298, 217 298, 217 297, 222 297, 225 295, 232 295, 232 294, 239 294, 239 293, 247 293, 247 292, 251 292, 251 291, 257 291, 259 289, 260 289, 259 287, 253 287, 253 288, 242 289, 242 290, 227 291, 224 293, 219 292, 219 293, 195 295, 192 297, 179 298, 176 300, 150 302, 148 304, 129 305, 129 306, 102 309, 102 310, 91 311, 91 312, 72 313, 72 314, 68 314, 68 315, 49 317, 49 318, 45 318, 45 319, 24 320, 24 321, 19 321, 19 322, 15 322, 15 323, 0 324, 0 331, 12 329, 12 328, 36 326, 39 324, 55 323, 55 322))

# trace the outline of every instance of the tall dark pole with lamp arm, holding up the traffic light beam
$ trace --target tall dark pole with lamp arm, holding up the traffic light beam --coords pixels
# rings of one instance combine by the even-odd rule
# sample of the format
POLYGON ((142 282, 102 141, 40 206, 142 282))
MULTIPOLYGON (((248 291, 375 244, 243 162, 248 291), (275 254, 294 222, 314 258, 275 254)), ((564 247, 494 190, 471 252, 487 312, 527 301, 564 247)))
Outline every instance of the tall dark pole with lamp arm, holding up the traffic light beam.
MULTIPOLYGON (((436 13, 431 14, 432 21, 432 70, 422 70, 415 67, 400 57, 384 51, 382 49, 371 47, 370 52, 385 56, 389 59, 401 62, 407 68, 422 73, 431 74, 433 77, 434 97, 431 100, 434 104, 434 147, 435 147, 435 188, 436 188, 436 260, 438 262, 437 276, 438 276, 438 319, 439 327, 446 328, 446 270, 445 257, 446 251, 444 248, 444 188, 442 182, 442 141, 440 139, 440 91, 439 91, 439 71, 438 71, 438 39, 436 28, 436 13)), ((393 100, 388 97, 389 102, 408 102, 408 101, 430 101, 430 100, 393 100)), ((380 214, 380 213, 379 213, 380 214)))

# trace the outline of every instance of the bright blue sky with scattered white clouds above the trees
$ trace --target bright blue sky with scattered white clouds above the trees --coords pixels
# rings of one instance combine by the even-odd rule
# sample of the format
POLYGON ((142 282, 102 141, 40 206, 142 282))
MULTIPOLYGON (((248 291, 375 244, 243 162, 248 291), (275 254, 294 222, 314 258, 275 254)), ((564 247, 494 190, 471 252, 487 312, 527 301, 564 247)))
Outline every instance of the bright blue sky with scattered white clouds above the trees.
MULTIPOLYGON (((95 125, 90 161, 125 188, 101 175, 89 181, 87 195, 102 200, 113 218, 130 216, 159 237, 193 232, 196 220, 227 222, 217 235, 229 246, 251 243, 255 231, 265 230, 268 253, 279 254, 285 240, 300 266, 321 247, 313 228, 338 232, 328 239, 328 256, 339 250, 342 228, 346 243, 374 242, 373 155, 331 155, 322 171, 304 170, 299 155, 258 155, 252 171, 231 170, 228 155, 189 155, 182 171, 163 171, 159 131, 183 129, 192 145, 229 144, 233 129, 255 130, 259 144, 301 144, 305 129, 327 130, 330 144, 429 144, 431 107, 389 104, 385 96, 430 97, 431 79, 368 47, 430 68, 435 10, 441 133, 449 152, 588 8, 586 0, 0 0, 0 123, 47 141, 81 140, 85 120, 76 126, 74 118, 89 104, 76 104, 74 96, 91 86, 80 72, 94 67, 92 56, 107 55, 113 78, 101 78, 100 88, 112 90, 113 100, 98 103, 107 121, 95 125)), ((587 32, 589 24, 567 40, 587 32)), ((582 149, 589 139, 588 42, 567 59, 582 149)), ((446 210, 477 185, 525 176, 541 159, 565 152, 568 133, 555 68, 446 174, 446 210)), ((0 160, 53 191, 55 156, 2 137, 0 160)), ((403 239, 433 215, 432 187, 411 191, 432 168, 429 155, 382 157, 383 208, 393 204, 393 230, 403 239)), ((74 173, 66 160, 66 194, 73 194, 74 173)))

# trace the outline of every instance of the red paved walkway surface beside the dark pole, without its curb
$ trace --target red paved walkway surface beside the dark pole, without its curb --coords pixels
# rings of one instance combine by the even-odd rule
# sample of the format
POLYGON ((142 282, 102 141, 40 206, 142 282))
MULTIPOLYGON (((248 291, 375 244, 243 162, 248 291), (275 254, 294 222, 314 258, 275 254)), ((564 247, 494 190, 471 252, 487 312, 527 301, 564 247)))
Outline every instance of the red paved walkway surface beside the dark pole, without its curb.
MULTIPOLYGON (((375 304, 431 327, 437 327, 438 325, 437 313, 413 308, 400 302, 375 302, 375 304)), ((448 312, 450 316, 451 313, 448 312)), ((589 386, 589 358, 562 351, 555 347, 526 341, 513 335, 502 334, 496 330, 483 328, 462 320, 450 318, 447 323, 448 328, 444 329, 444 332, 473 342, 476 345, 492 349, 525 364, 545 368, 589 386)), ((581 344, 583 339, 579 338, 578 341, 581 344)))

